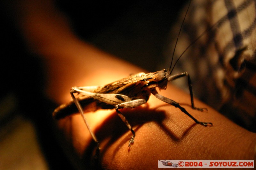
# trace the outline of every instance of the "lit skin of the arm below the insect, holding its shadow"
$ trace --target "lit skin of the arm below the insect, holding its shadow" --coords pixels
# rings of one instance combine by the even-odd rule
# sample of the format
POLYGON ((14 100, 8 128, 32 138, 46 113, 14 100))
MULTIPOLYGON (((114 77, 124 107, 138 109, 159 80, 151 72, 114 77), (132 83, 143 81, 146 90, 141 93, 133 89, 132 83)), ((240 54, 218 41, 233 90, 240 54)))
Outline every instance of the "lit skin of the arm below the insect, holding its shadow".
MULTIPOLYGON (((134 144, 128 148, 132 134, 115 110, 88 113, 86 118, 100 141, 101 166, 141 169, 157 167, 158 159, 253 159, 254 133, 198 100, 196 106, 206 107, 208 112, 193 110, 189 95, 176 87, 170 85, 160 94, 180 102, 198 120, 213 122, 213 126, 198 125, 179 109, 151 96, 144 106, 122 110, 136 132, 134 144), (143 164, 144 161, 147 164, 143 164)), ((60 120, 58 126, 65 133, 69 146, 82 158, 76 157, 80 163, 88 163, 94 155, 91 147, 95 149, 96 145, 81 116, 77 114, 60 120)))

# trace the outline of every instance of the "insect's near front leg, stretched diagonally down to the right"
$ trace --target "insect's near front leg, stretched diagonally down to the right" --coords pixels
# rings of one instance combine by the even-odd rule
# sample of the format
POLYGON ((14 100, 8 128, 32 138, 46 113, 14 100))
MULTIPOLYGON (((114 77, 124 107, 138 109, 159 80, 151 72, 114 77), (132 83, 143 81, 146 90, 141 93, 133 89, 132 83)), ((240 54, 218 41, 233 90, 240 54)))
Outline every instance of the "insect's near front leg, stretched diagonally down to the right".
POLYGON ((201 125, 204 125, 204 126, 207 126, 208 124, 212 125, 211 122, 200 122, 198 121, 196 118, 194 118, 192 115, 190 115, 188 113, 188 111, 184 108, 184 107, 181 107, 179 103, 177 103, 176 101, 174 100, 171 100, 167 97, 164 97, 160 94, 158 94, 158 92, 156 90, 152 90, 152 94, 154 94, 156 96, 157 99, 159 100, 162 100, 164 101, 165 103, 168 103, 168 104, 171 104, 172 106, 174 107, 178 107, 183 113, 185 113, 186 115, 188 115, 191 119, 193 119, 197 124, 201 124, 201 125))

